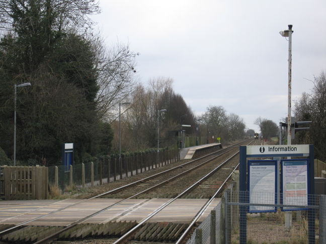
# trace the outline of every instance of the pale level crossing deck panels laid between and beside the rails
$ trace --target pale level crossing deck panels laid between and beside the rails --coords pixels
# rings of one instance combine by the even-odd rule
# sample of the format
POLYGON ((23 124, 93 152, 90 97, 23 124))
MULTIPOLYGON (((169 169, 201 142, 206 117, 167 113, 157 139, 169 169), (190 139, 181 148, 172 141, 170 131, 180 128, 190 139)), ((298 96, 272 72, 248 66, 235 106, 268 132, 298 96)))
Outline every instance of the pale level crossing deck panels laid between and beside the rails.
MULTIPOLYGON (((77 219, 90 215, 119 200, 110 198, 92 199, 33 221, 29 225, 66 226, 77 219)), ((86 220, 85 223, 106 223, 109 221, 138 222, 169 200, 169 198, 129 199, 86 220)), ((80 199, 2 201, 0 202, 0 224, 18 224, 78 201, 80 199)), ((177 199, 150 219, 149 222, 189 223, 206 201, 207 199, 177 199)), ((205 219, 210 210, 219 201, 220 198, 214 199, 199 221, 205 219)))

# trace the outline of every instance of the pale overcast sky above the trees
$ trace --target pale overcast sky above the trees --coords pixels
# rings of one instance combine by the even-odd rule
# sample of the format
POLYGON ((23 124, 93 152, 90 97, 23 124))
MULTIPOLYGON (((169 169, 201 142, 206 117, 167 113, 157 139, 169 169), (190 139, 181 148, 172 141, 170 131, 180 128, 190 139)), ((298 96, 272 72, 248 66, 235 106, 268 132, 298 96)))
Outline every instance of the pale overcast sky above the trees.
POLYGON ((167 77, 193 112, 212 105, 239 115, 247 129, 258 117, 287 117, 288 41, 292 30, 294 102, 326 71, 326 1, 100 0, 93 16, 107 47, 139 53, 137 78, 167 77))

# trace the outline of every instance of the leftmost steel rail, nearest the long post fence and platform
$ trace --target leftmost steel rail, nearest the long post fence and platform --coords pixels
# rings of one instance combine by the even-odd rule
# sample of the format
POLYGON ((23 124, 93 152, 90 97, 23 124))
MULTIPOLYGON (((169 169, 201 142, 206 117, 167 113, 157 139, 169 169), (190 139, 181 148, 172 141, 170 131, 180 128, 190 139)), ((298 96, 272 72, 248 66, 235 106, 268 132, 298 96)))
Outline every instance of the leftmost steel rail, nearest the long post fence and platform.
MULTIPOLYGON (((241 144, 241 143, 238 143, 238 144, 241 144)), ((235 145, 238 145, 238 144, 235 144, 235 145)), ((73 204, 70 204, 70 205, 68 205, 68 206, 65 206, 65 207, 59 208, 59 209, 57 209, 57 210, 54 210, 54 211, 52 211, 52 212, 49 212, 49 213, 47 213, 47 214, 44 214, 44 215, 42 215, 42 216, 39 216, 39 217, 36 217, 36 218, 30 219, 30 220, 27 220, 27 221, 25 221, 25 222, 21 222, 21 223, 16 224, 15 226, 12 226, 12 227, 10 227, 10 228, 8 228, 8 229, 1 230, 1 231, 0 231, 0 236, 3 236, 3 235, 5 235, 5 234, 7 234, 7 233, 9 233, 9 232, 11 232, 11 231, 13 231, 13 230, 16 230, 16 229, 21 228, 23 225, 25 225, 25 224, 27 224, 27 223, 30 223, 30 222, 33 222, 33 221, 38 220, 38 219, 40 219, 40 218, 43 218, 43 217, 49 216, 49 215, 51 215, 51 214, 53 214, 53 213, 60 212, 60 211, 65 210, 65 209, 67 209, 67 208, 69 208, 69 207, 73 207, 73 206, 75 206, 75 205, 78 205, 78 204, 84 203, 84 202, 86 202, 86 201, 89 201, 89 200, 92 200, 92 199, 95 199, 95 198, 98 198, 98 197, 102 197, 102 196, 105 196, 105 195, 108 195, 108 194, 112 194, 112 193, 115 193, 115 192, 121 191, 121 190, 123 190, 123 189, 125 189, 125 188, 131 187, 131 186, 134 186, 134 185, 137 185, 137 184, 139 184, 139 183, 146 182, 146 181, 148 181, 148 180, 150 180, 150 179, 152 179, 152 178, 155 178, 155 177, 158 177, 158 176, 160 176, 160 175, 163 175, 163 174, 169 173, 169 172, 171 172, 171 171, 173 171, 173 170, 175 170, 175 169, 182 168, 182 167, 184 167, 184 166, 186 166, 186 165, 192 164, 192 163, 197 162, 197 161, 199 161, 199 160, 201 160, 201 159, 207 158, 207 157, 209 157, 209 156, 211 156, 211 155, 214 155, 214 154, 216 154, 216 153, 219 153, 219 152, 222 152, 222 151, 225 150, 225 152, 223 152, 223 154, 224 154, 224 153, 226 153, 226 152, 229 152, 229 151, 231 150, 230 148, 232 148, 232 147, 233 147, 233 146, 228 147, 228 148, 225 148, 225 149, 218 150, 218 151, 216 151, 216 152, 213 152, 213 153, 210 153, 210 154, 204 155, 204 156, 202 156, 202 157, 200 157, 200 158, 198 158, 198 159, 191 160, 191 161, 189 161, 189 162, 186 162, 186 163, 181 164, 181 165, 179 165, 179 166, 173 167, 173 168, 171 168, 171 169, 168 169, 168 170, 165 170, 165 171, 162 171, 162 172, 156 173, 156 174, 154 174, 154 175, 151 175, 151 176, 145 177, 145 178, 143 178, 143 179, 140 179, 140 180, 134 181, 134 182, 132 182, 132 183, 129 183, 129 184, 127 184, 127 185, 124 185, 124 186, 118 187, 118 188, 116 188, 116 189, 113 189, 113 190, 110 190, 110 191, 107 191, 107 192, 104 192, 104 193, 99 194, 99 195, 96 195, 96 196, 94 196, 94 197, 80 200, 80 201, 75 202, 75 203, 73 203, 73 204)), ((142 194, 143 194, 143 193, 142 193, 142 194)), ((128 199, 129 199, 129 198, 128 198, 128 199)), ((120 202, 120 203, 121 203, 121 202, 120 202)))

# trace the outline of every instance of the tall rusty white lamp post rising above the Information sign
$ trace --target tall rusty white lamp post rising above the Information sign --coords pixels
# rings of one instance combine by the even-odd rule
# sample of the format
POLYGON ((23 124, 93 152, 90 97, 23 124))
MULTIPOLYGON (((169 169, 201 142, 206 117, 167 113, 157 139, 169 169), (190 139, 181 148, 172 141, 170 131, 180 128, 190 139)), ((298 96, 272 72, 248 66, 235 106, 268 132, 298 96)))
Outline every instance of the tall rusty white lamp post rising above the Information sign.
POLYGON ((287 144, 291 145, 291 65, 292 65, 292 25, 288 25, 288 30, 280 31, 282 37, 289 38, 289 53, 288 53, 288 136, 287 144))

